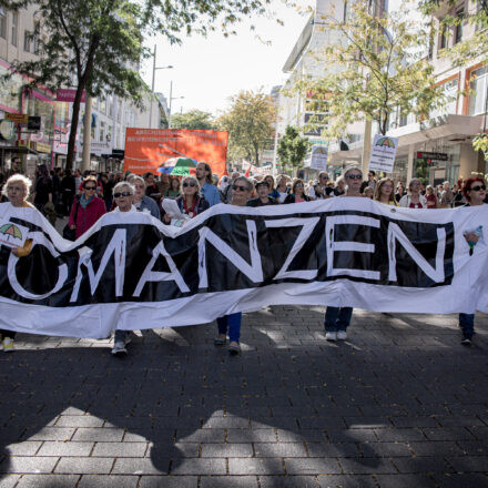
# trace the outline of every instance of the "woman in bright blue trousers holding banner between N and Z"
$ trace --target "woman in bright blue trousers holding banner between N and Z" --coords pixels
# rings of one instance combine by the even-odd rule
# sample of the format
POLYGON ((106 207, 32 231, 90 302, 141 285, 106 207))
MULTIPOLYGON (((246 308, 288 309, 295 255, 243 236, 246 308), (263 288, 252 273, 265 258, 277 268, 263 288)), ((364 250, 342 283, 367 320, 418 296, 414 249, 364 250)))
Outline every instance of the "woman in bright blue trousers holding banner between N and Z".
MULTIPOLYGON (((238 176, 232 184, 231 205, 245 206, 253 192, 253 184, 245 176, 238 176)), ((238 339, 241 337, 242 313, 224 315, 217 318, 218 335, 214 339, 216 346, 223 346, 227 339, 228 331, 228 352, 232 355, 241 353, 238 339)))

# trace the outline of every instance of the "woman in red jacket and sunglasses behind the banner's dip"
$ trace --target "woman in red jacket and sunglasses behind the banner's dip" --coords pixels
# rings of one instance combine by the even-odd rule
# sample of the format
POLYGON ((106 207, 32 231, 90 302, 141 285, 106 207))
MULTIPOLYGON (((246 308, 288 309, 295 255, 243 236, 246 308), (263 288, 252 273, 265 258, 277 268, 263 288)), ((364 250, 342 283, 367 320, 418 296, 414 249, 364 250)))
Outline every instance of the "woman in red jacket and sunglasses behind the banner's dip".
POLYGON ((96 196, 96 179, 87 176, 81 184, 81 195, 74 199, 68 221, 70 228, 74 230, 74 238, 84 234, 105 213, 105 202, 96 196))

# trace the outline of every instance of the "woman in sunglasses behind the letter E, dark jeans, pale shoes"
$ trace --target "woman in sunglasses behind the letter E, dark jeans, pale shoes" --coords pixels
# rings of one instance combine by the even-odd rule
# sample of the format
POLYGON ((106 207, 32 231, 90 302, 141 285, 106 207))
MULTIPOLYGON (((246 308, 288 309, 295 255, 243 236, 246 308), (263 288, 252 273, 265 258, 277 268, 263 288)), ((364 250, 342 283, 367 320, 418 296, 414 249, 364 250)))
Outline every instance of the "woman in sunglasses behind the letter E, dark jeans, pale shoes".
MULTIPOLYGON (((342 196, 358 196, 363 197, 360 193, 360 185, 363 183, 363 173, 357 167, 350 167, 344 174, 346 181, 346 193, 342 196)), ((347 339, 347 327, 350 324, 353 316, 353 307, 331 307, 325 311, 324 328, 325 338, 327 340, 345 340, 347 339)))

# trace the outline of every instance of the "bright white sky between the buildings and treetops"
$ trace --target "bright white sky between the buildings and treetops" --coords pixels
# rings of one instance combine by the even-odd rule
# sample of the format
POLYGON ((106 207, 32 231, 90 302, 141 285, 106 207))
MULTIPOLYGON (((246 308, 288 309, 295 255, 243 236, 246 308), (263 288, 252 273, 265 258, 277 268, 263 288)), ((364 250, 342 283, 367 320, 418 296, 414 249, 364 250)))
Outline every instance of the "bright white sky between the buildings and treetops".
MULTIPOLYGON (((301 2, 306 6, 307 0, 301 2)), ((146 45, 156 48, 156 67, 173 65, 173 69, 156 70, 154 91, 166 99, 170 82, 173 82, 172 113, 199 109, 218 115, 228 108, 228 98, 241 90, 258 90, 268 93, 274 85, 283 84, 287 74, 282 68, 286 62, 309 14, 301 14, 279 0, 273 0, 276 20, 250 17, 242 22, 236 35, 224 38, 220 32, 206 38, 184 38, 181 45, 170 45, 162 37, 146 40, 146 45), (251 26, 256 27, 255 31, 251 26), (260 38, 261 37, 261 40, 260 38)), ((152 58, 142 67, 142 75, 151 87, 152 58)))

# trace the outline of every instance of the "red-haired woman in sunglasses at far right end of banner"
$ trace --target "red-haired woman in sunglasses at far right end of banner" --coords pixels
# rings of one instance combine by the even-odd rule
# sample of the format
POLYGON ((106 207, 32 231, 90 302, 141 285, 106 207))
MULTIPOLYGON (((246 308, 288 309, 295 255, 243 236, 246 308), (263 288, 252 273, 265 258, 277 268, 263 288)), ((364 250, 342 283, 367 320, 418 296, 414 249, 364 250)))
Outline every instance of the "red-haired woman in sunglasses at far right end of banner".
MULTIPOLYGON (((464 206, 479 206, 485 205, 486 199, 486 183, 480 176, 469 177, 466 180, 462 187, 462 194, 468 202, 464 206)), ((481 230, 476 232, 475 230, 465 234, 466 241, 469 243, 470 253, 472 253, 476 243, 479 241, 481 230)), ((459 314, 459 327, 462 332, 461 344, 464 346, 470 346, 472 342, 472 335, 475 334, 475 314, 459 314)))

